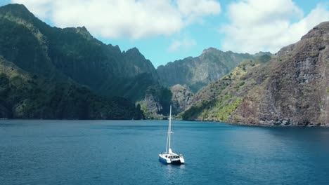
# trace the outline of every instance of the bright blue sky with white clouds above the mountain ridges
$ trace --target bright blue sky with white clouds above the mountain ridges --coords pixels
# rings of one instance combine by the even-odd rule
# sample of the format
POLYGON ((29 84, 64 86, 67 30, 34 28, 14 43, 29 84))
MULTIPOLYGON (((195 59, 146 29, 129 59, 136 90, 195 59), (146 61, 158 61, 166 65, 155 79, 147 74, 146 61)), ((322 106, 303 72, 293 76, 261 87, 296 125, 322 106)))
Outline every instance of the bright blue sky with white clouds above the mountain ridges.
POLYGON ((103 43, 138 48, 155 67, 213 47, 276 53, 329 21, 328 0, 0 0, 56 27, 86 27, 103 43))

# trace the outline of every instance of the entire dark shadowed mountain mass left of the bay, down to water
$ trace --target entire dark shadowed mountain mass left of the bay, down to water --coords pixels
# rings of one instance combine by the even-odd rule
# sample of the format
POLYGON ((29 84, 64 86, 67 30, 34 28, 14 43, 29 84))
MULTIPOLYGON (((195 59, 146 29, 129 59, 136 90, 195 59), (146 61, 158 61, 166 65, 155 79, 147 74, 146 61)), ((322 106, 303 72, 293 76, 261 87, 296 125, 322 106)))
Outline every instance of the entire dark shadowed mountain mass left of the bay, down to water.
POLYGON ((125 98, 143 98, 157 74, 136 48, 121 52, 84 27, 50 27, 18 4, 0 7, 0 27, 1 118, 143 116, 125 98))

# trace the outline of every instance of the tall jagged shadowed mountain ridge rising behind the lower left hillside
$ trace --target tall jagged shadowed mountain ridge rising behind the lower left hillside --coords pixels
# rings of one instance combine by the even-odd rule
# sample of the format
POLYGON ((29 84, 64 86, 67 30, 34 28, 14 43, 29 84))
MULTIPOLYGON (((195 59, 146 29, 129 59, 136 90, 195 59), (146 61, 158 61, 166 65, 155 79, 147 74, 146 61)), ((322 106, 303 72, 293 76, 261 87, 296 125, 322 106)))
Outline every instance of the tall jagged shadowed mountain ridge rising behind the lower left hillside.
POLYGON ((0 27, 0 55, 31 74, 132 101, 158 84, 153 64, 137 48, 122 52, 94 39, 85 27, 50 27, 19 4, 0 7, 0 27))

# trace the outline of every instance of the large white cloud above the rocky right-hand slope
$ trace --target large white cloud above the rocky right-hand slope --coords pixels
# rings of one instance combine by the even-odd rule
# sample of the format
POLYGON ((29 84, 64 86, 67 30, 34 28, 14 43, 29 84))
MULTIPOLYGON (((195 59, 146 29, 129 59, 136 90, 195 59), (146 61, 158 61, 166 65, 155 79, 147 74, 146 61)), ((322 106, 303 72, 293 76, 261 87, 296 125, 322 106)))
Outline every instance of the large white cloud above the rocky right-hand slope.
POLYGON ((329 20, 329 11, 318 4, 304 16, 291 0, 243 0, 228 6, 228 17, 230 23, 221 28, 224 50, 276 53, 299 41, 318 23, 329 20))

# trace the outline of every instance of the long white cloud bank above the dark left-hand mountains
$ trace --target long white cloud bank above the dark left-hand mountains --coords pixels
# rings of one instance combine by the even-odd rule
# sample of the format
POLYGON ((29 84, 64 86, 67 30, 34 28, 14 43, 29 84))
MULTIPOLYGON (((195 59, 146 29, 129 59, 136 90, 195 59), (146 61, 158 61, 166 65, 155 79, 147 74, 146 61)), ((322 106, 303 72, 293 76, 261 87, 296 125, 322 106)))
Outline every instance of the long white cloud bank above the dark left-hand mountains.
MULTIPOLYGON (((183 1, 172 0, 12 0, 25 4, 42 19, 57 27, 85 26, 98 36, 110 39, 143 39, 172 35, 188 21, 220 12, 217 1, 193 1, 199 8, 184 8, 183 1), (212 7, 209 7, 212 6, 212 7), (218 8, 217 10, 215 8, 218 8)), ((192 2, 192 1, 191 1, 192 2)))

